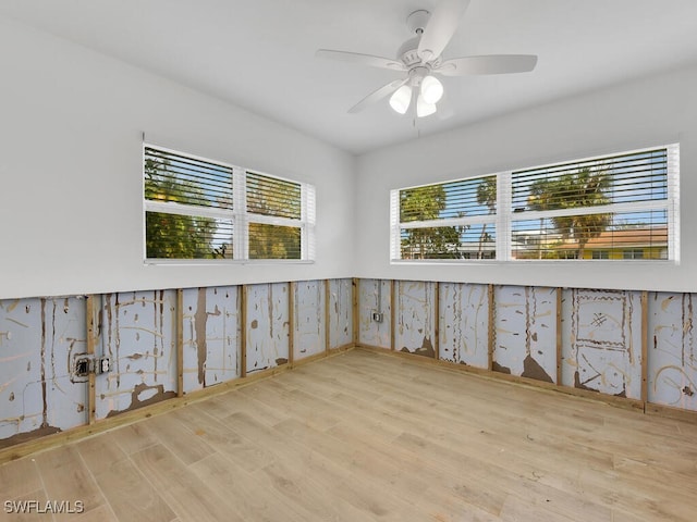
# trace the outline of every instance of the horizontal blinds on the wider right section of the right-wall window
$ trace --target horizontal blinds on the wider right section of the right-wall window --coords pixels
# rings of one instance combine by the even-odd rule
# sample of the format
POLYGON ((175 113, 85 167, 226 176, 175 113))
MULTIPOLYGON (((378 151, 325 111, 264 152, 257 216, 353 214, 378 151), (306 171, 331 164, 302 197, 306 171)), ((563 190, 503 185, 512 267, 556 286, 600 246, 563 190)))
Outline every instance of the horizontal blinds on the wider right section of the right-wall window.
POLYGON ((668 148, 511 174, 513 259, 673 259, 668 148))

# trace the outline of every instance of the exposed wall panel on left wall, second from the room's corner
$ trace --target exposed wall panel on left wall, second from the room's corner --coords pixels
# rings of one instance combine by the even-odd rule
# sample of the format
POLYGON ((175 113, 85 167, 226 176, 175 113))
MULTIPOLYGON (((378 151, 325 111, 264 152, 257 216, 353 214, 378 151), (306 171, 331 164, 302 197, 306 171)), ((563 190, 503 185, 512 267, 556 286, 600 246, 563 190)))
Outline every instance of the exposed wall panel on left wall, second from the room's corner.
POLYGON ((326 350, 325 282, 301 281, 294 286, 293 358, 301 360, 326 350))

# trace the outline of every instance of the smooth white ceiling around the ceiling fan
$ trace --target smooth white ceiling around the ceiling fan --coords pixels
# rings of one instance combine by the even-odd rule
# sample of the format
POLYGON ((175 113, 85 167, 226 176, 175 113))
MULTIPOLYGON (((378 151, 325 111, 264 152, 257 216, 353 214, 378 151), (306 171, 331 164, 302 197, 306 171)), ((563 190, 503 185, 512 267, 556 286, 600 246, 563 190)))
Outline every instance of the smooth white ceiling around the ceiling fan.
MULTIPOLYGON (((0 0, 0 15, 217 96, 353 153, 697 63, 695 0, 473 0, 443 57, 538 54, 533 73, 447 77, 451 117, 387 99, 400 73, 315 58, 393 58, 405 20, 438 0, 0 0)), ((442 111, 447 112, 447 111, 442 111)))

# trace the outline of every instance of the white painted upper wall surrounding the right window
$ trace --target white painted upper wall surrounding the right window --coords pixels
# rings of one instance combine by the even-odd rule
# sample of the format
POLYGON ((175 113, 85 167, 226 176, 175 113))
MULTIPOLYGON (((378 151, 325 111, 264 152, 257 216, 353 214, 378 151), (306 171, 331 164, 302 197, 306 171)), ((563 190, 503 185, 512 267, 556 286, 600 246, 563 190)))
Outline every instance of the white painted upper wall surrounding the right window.
MULTIPOLYGON (((354 275, 588 288, 697 291, 697 67, 550 102, 358 159, 354 275), (394 264, 389 191, 506 169, 681 144, 682 261, 394 264)), ((474 102, 474 101, 473 101, 474 102)))

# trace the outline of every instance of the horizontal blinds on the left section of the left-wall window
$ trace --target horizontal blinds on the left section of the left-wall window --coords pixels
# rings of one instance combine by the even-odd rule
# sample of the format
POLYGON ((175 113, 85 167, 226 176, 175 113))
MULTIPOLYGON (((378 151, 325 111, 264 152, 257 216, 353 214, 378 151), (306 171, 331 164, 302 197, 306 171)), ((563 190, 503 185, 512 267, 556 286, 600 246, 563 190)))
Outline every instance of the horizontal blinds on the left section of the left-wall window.
POLYGON ((144 150, 146 258, 233 259, 232 167, 144 150))

